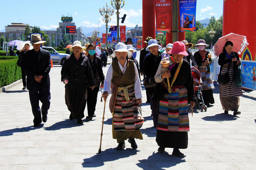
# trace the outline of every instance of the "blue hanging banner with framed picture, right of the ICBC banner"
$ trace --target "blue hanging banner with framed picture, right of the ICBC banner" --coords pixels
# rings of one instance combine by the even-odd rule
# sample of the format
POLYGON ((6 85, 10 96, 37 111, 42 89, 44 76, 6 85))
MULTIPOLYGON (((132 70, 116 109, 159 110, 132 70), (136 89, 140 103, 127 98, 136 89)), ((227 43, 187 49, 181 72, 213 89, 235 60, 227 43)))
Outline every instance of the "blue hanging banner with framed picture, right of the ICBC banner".
POLYGON ((180 30, 195 31, 196 0, 180 0, 180 30))

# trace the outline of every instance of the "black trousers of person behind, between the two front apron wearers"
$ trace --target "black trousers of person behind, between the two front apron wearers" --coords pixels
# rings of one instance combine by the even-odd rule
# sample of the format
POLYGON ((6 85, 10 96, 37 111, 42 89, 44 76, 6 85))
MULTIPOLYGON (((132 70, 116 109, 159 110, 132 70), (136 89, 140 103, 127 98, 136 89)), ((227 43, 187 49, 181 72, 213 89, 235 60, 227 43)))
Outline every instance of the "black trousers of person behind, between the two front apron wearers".
POLYGON ((154 123, 154 126, 157 126, 158 112, 159 112, 159 101, 152 99, 155 87, 154 88, 145 88, 145 89, 148 91, 148 95, 150 96, 150 109, 153 114, 153 123, 154 123))

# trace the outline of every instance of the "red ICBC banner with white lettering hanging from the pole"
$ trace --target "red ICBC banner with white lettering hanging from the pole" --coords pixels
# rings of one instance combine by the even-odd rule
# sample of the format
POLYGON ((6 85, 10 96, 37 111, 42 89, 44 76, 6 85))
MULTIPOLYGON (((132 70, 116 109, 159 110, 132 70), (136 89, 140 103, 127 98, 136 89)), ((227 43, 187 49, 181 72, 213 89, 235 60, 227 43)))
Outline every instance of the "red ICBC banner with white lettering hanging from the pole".
POLYGON ((172 0, 155 0, 157 32, 171 32, 172 0))

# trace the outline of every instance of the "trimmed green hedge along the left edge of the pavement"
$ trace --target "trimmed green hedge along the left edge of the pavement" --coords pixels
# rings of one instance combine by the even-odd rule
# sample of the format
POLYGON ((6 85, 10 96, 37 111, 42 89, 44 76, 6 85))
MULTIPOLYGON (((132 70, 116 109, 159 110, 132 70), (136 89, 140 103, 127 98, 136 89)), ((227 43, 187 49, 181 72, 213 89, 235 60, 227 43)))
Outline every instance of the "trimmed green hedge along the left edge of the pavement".
POLYGON ((0 87, 21 79, 21 69, 16 63, 17 58, 0 60, 0 87))

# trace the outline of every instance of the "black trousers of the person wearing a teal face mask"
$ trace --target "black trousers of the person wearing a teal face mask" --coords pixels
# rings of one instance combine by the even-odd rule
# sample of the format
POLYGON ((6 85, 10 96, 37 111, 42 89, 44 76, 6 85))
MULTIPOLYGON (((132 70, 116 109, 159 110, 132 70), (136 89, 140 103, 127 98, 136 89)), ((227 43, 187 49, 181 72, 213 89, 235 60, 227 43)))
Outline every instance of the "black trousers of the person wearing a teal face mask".
POLYGON ((88 116, 93 116, 93 114, 95 112, 98 92, 99 92, 99 86, 96 86, 93 90, 91 88, 87 89, 87 112, 88 112, 88 116))

